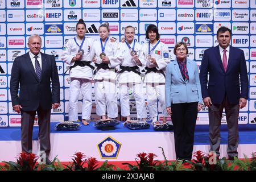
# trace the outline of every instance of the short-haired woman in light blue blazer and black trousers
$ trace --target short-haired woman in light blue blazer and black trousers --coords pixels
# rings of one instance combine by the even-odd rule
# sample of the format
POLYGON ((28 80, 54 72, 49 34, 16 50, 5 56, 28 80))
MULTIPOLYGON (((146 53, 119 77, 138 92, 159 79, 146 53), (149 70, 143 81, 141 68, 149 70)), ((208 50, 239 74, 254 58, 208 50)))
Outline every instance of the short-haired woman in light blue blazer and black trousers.
POLYGON ((166 109, 174 125, 177 160, 191 160, 197 112, 203 107, 196 61, 187 59, 187 44, 174 47, 176 60, 167 65, 166 109))

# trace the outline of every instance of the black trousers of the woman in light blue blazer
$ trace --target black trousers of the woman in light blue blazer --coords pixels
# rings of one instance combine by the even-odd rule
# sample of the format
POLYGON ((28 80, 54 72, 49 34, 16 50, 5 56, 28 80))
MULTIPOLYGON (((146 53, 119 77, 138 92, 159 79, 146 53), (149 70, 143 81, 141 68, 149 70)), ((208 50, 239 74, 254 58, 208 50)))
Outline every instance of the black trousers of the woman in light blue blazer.
POLYGON ((172 104, 176 159, 191 160, 198 102, 172 104))

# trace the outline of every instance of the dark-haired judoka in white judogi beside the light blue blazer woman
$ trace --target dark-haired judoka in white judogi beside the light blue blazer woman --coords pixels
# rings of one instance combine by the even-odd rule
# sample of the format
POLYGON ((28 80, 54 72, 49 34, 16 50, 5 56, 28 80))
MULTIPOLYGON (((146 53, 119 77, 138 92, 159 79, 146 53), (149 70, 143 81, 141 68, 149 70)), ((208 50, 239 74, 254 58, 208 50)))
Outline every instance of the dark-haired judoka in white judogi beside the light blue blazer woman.
POLYGON ((165 123, 166 117, 169 116, 165 109, 164 95, 165 71, 167 64, 170 63, 169 51, 166 44, 160 42, 158 27, 154 24, 150 24, 147 27, 146 38, 150 40, 148 43, 143 44, 143 52, 146 59, 144 83, 146 83, 148 110, 153 122, 155 122, 158 117, 157 100, 159 100, 160 109, 163 113, 163 123, 165 123))

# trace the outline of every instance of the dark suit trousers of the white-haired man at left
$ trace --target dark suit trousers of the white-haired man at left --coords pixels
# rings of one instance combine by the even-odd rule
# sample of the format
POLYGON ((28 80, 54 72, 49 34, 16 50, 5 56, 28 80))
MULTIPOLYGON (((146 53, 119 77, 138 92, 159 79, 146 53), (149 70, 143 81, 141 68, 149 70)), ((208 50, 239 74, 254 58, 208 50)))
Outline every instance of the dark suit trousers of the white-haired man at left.
POLYGON ((49 156, 51 151, 50 143, 50 121, 51 110, 43 110, 40 106, 36 111, 23 111, 21 112, 21 133, 22 133, 22 151, 32 152, 32 133, 35 121, 35 114, 38 113, 38 125, 39 125, 39 139, 40 139, 40 151, 46 152, 46 156, 49 156))

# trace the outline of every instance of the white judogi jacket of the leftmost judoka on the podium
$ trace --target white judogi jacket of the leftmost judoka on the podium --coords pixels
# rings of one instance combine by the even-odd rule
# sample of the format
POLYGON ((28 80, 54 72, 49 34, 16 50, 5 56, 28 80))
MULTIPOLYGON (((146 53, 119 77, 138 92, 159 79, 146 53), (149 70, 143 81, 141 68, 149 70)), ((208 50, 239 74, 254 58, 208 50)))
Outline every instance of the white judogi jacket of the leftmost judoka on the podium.
MULTIPOLYGON (((78 39, 76 36, 76 41, 79 45, 81 45, 82 40, 78 39)), ((81 61, 90 61, 93 60, 93 43, 94 40, 92 38, 85 38, 84 44, 82 49, 84 49, 84 55, 82 56, 81 61)), ((69 65, 74 65, 75 62, 71 63, 73 57, 76 56, 76 53, 79 51, 79 46, 77 46, 75 39, 69 39, 67 43, 63 46, 63 55, 61 56, 61 60, 65 61, 65 63, 69 65)), ((86 78, 92 80, 93 77, 93 70, 92 68, 85 66, 80 67, 77 66, 72 68, 69 73, 70 78, 86 78)))

